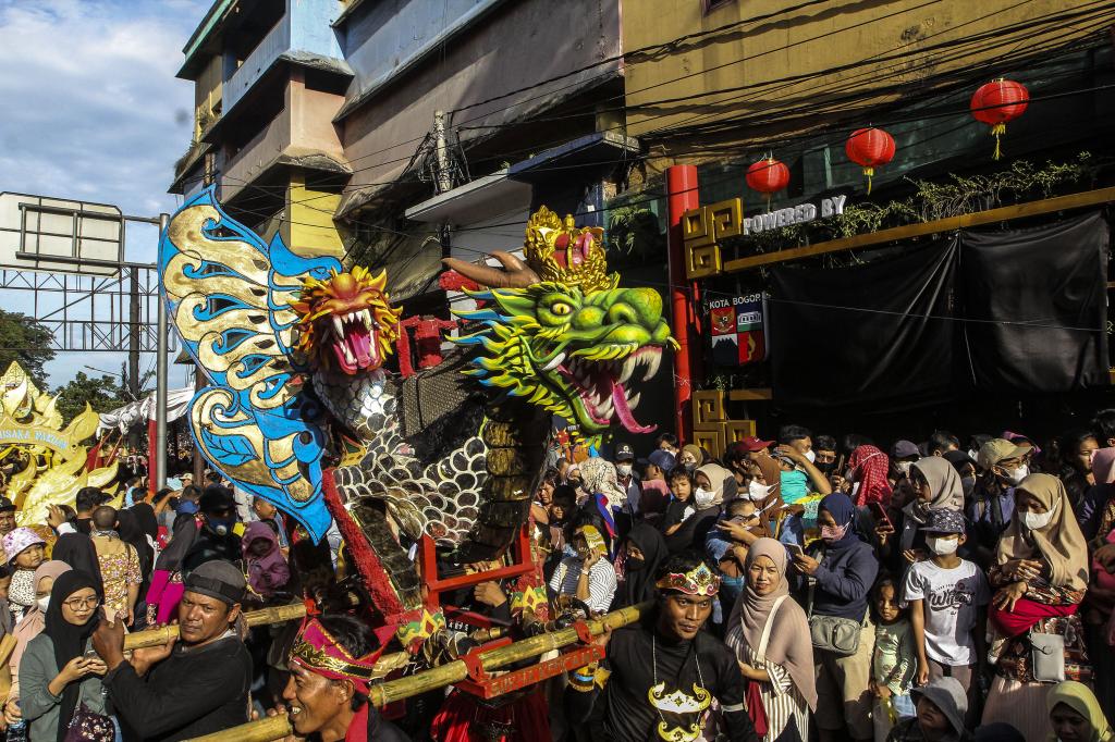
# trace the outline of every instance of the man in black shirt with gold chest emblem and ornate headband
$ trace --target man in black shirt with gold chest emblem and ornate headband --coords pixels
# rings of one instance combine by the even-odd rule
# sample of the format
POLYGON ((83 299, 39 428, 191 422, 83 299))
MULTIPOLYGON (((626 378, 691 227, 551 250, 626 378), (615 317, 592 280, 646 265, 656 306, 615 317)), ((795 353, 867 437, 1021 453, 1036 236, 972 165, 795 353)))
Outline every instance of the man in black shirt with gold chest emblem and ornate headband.
POLYGON ((636 625, 597 638, 608 656, 569 674, 570 722, 584 723, 603 703, 602 730, 612 742, 694 742, 702 735, 712 699, 720 732, 733 742, 758 742, 744 707, 746 685, 735 655, 701 631, 720 579, 699 556, 670 557, 657 575, 658 599, 636 625))

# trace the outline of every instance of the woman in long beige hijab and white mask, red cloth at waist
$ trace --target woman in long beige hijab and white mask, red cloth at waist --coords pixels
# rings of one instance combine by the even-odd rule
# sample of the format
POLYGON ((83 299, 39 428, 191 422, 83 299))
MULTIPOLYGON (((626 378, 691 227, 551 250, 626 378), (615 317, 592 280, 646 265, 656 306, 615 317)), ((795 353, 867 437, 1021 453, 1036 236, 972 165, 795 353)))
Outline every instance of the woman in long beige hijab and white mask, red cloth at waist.
POLYGON ((1027 740, 1045 739, 1053 685, 1049 677, 1036 677, 1049 671, 1034 665, 1035 647, 1041 656, 1064 646, 1059 680, 1092 677, 1077 615, 1088 586, 1088 551, 1059 479, 1036 473, 1015 488, 1015 514, 999 537, 988 579, 998 590, 988 611, 997 662, 983 723, 1009 722, 1027 740))

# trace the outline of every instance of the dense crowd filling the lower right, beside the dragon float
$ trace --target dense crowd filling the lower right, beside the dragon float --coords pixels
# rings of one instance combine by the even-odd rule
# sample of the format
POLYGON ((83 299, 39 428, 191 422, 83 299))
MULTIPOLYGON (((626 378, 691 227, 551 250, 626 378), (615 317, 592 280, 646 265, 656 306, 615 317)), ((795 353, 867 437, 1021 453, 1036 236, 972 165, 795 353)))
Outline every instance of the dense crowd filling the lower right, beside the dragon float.
POLYGON ((539 492, 550 587, 658 623, 572 676, 554 739, 1112 738, 1115 410, 1050 441, 791 424, 721 460, 669 435, 609 458, 539 492))

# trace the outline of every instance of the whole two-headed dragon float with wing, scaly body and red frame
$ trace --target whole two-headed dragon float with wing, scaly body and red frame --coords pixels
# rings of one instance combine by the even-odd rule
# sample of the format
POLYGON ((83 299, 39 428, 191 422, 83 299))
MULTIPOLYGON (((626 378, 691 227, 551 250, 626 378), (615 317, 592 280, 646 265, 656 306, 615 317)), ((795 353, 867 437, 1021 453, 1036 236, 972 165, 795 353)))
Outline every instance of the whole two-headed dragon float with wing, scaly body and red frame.
POLYGON ((543 207, 523 256, 494 254, 503 270, 446 261, 476 309, 456 313, 455 350, 404 375, 385 367, 403 313, 385 274, 266 242, 212 188, 174 215, 159 252, 168 316, 209 381, 188 411, 198 450, 298 524, 310 609, 357 604, 408 672, 463 662, 445 676, 485 696, 584 664, 591 631, 584 616, 559 621, 580 626, 583 646, 497 687, 486 653, 511 638, 460 642, 501 632, 446 594, 502 580, 518 625, 555 627, 530 521, 552 420, 597 443, 613 426, 653 430, 636 418, 638 388, 676 348, 660 295, 608 273, 601 230, 543 207), (340 579, 314 546, 331 523, 340 579), (477 631, 450 631, 447 616, 477 631))

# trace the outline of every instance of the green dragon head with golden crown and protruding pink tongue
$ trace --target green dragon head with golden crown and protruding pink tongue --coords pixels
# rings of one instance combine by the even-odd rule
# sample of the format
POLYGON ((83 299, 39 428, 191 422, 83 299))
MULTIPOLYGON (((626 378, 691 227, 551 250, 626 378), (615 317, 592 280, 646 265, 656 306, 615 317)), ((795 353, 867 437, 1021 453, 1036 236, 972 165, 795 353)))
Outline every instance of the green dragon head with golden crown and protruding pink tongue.
POLYGON ((620 289, 619 275, 607 274, 601 236, 543 208, 527 225, 530 267, 508 255, 497 257, 510 273, 449 262, 502 286, 468 292, 486 305, 457 315, 483 329, 456 342, 479 349, 467 373, 482 384, 575 422, 585 437, 614 421, 651 432, 634 418, 640 396, 631 389, 658 372, 662 351, 677 342, 657 291, 620 289))

